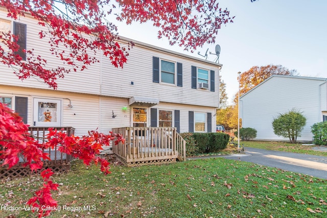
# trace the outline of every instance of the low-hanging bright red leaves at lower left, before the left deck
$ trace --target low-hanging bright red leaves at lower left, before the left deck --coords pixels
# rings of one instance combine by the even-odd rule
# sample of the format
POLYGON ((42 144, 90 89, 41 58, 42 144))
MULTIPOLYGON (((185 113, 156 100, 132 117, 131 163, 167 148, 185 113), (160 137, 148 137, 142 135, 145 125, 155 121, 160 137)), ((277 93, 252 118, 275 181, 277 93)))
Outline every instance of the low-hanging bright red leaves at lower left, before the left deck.
MULTIPOLYGON (((106 159, 99 157, 102 146, 108 146, 113 139, 117 139, 115 144, 125 140, 121 135, 112 132, 106 135, 90 131, 87 136, 78 137, 68 136, 64 132, 51 128, 49 131, 46 142, 40 144, 30 136, 28 125, 22 123, 21 117, 0 103, 0 159, 3 159, 2 165, 8 164, 8 168, 11 168, 18 163, 19 157, 22 156, 26 159, 25 165, 29 166, 32 172, 36 171, 36 169, 42 168, 42 159, 49 159, 48 154, 42 152, 42 148, 53 148, 60 144, 60 152, 79 158, 86 165, 91 162, 100 163, 100 169, 106 175, 110 173, 110 166, 106 159)), ((48 209, 57 206, 51 191, 57 190, 58 184, 51 181, 52 174, 51 169, 41 172, 44 180, 43 187, 35 191, 35 196, 27 202, 32 208, 38 208, 36 211, 38 211, 39 217, 49 215, 51 210, 48 209)))

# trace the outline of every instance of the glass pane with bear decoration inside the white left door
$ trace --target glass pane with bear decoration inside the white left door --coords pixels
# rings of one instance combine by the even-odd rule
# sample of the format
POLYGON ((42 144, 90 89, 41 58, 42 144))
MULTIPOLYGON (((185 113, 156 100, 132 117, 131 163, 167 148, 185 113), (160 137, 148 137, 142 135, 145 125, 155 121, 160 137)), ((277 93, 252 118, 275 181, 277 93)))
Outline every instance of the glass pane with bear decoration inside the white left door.
POLYGON ((38 103, 38 122, 57 122, 57 103, 38 103))

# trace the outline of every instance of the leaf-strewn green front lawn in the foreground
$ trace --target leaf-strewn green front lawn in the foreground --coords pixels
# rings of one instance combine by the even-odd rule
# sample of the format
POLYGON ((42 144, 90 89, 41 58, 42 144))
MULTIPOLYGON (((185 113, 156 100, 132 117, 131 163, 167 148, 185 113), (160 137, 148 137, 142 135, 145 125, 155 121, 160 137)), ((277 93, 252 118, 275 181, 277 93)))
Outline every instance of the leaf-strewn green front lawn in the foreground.
MULTIPOLYGON (((96 166, 74 161, 54 176, 61 206, 50 217, 326 217, 326 180, 253 163, 209 158, 164 165, 96 166), (81 210, 68 211, 81 207, 81 210), (84 210, 84 206, 90 209, 84 210), (78 215, 78 216, 77 216, 78 215)), ((37 177, 3 181, 0 203, 24 206, 37 177)), ((35 217, 30 211, 0 211, 0 217, 35 217)))

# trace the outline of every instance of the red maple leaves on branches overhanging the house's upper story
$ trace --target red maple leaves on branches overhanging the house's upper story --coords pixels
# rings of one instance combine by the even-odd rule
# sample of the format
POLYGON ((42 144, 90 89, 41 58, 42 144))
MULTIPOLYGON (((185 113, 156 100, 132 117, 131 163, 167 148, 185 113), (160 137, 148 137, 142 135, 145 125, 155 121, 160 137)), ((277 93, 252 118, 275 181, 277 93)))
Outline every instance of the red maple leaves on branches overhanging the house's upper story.
MULTIPOLYGON (((46 68, 46 60, 28 50, 27 61, 16 54, 19 45, 12 33, 0 34, 4 47, 0 46, 0 59, 16 69, 15 74, 24 80, 30 77, 42 79, 56 89, 57 78, 63 78, 71 70, 85 69, 98 61, 96 54, 105 55, 115 67, 123 67, 128 52, 118 43, 116 26, 106 20, 118 4, 121 11, 116 19, 131 23, 153 22, 158 27, 158 38, 167 37, 170 44, 178 43, 192 52, 204 43, 214 43, 221 25, 232 22, 229 11, 219 8, 218 0, 0 0, 8 10, 8 17, 18 19, 30 14, 48 31, 40 31, 40 39, 50 42, 50 52, 63 64, 46 68), (61 7, 63 10, 60 10, 61 7), (62 67, 62 65, 71 67, 62 67), (18 70, 19 69, 19 70, 18 70)), ((129 50, 130 45, 127 49, 129 50)))

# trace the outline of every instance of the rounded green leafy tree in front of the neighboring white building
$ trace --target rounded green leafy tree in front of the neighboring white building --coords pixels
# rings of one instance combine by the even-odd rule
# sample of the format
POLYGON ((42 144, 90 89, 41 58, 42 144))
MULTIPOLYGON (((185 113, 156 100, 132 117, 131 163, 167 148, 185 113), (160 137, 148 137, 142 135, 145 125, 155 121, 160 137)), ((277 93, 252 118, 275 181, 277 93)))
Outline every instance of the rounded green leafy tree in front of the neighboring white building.
POLYGON ((278 136, 289 138, 291 143, 296 143, 297 137, 307 123, 307 118, 298 110, 292 109, 286 113, 279 114, 272 122, 274 133, 278 136))

